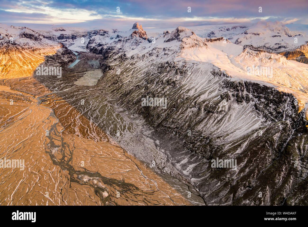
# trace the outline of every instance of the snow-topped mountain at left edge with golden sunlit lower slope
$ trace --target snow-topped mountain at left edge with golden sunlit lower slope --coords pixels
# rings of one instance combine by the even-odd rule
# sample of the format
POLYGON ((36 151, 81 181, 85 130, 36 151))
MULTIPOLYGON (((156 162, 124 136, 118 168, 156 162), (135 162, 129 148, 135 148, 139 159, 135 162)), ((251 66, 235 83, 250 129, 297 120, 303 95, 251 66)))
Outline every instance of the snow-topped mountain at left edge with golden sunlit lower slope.
POLYGON ((31 76, 49 59, 52 66, 66 64, 76 57, 62 43, 51 41, 27 28, 0 24, 0 78, 31 76))

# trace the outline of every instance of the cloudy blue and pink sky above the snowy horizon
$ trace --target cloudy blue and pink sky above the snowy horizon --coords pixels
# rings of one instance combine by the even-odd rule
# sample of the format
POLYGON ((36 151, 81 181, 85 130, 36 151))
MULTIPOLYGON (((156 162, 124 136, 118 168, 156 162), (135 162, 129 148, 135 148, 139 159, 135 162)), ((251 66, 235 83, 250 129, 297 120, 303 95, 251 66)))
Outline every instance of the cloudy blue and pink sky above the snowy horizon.
POLYGON ((0 23, 7 25, 168 28, 261 20, 308 24, 308 0, 0 0, 0 23))

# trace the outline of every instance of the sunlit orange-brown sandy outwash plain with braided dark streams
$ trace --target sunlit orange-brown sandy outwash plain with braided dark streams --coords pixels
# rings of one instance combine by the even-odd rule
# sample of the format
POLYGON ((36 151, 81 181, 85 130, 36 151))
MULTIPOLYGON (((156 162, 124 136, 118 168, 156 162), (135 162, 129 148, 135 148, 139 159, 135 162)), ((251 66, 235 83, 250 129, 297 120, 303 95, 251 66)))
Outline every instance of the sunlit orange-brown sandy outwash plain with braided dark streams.
POLYGON ((39 99, 6 86, 0 94, 0 158, 25 160, 24 170, 0 168, 1 205, 192 204, 119 145, 68 132, 39 99))

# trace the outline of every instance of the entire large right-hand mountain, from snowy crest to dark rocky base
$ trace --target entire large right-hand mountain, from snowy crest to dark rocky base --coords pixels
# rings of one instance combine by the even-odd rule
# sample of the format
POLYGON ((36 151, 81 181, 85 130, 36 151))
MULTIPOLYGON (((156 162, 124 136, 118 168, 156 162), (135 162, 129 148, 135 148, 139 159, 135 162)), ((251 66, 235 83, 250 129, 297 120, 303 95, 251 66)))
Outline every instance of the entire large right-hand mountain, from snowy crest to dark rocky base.
MULTIPOLYGON (((241 66, 272 66, 295 78, 293 63, 253 46, 203 39, 183 27, 154 44, 141 40, 97 45, 106 60, 98 84, 131 119, 144 119, 158 151, 141 148, 148 153, 138 156, 129 143, 122 141, 123 147, 193 184, 209 205, 307 204, 301 186, 307 180, 306 148, 295 148, 305 144, 298 138, 307 133, 306 92, 248 76, 241 66), (302 107, 291 92, 305 97, 302 107), (142 106, 147 96, 167 98, 167 108, 142 106), (212 168, 216 158, 237 159, 237 169, 212 168)), ((298 73, 307 71, 299 66, 298 73)))

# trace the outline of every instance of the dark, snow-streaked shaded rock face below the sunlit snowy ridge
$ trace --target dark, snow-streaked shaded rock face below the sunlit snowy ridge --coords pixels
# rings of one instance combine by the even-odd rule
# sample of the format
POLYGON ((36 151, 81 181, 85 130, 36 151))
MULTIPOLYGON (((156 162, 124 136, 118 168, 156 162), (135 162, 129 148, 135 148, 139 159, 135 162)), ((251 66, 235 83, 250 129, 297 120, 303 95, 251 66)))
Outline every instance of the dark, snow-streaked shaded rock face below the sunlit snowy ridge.
POLYGON ((162 171, 193 184, 206 204, 307 205, 307 121, 292 94, 233 81, 214 66, 209 72, 193 64, 188 73, 187 65, 172 61, 138 68, 128 79, 138 61, 124 58, 120 75, 105 67, 99 84, 114 104, 139 114, 154 129, 151 136, 160 141, 169 163, 155 159, 162 171), (206 77, 207 85, 188 95, 181 81, 197 75, 206 77), (166 97, 168 107, 141 106, 145 96, 166 97), (236 159, 237 170, 212 168, 216 158, 236 159))

